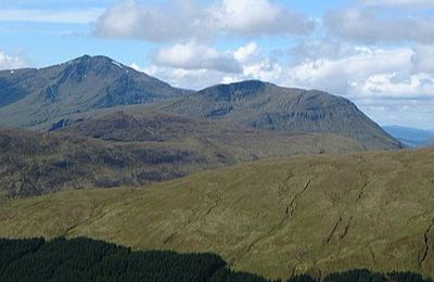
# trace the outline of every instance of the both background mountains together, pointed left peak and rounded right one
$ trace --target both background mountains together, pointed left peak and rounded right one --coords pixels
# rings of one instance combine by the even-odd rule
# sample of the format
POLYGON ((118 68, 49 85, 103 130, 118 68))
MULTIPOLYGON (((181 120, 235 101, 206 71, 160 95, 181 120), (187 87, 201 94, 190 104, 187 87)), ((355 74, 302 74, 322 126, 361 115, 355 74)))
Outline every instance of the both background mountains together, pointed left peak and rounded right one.
POLYGON ((59 129, 111 108, 165 112, 286 133, 333 133, 366 149, 401 143, 350 101, 317 90, 263 81, 219 85, 201 91, 170 87, 105 56, 75 59, 40 69, 0 72, 0 126, 59 129))

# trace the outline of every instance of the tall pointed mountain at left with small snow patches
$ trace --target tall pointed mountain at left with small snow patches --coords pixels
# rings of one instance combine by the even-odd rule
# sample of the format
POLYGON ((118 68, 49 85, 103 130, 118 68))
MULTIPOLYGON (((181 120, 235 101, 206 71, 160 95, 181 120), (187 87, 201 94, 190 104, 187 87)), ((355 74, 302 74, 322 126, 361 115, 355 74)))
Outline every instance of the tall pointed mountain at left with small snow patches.
POLYGON ((72 113, 155 103, 189 92, 110 57, 85 55, 39 69, 0 72, 0 126, 31 127, 72 113))

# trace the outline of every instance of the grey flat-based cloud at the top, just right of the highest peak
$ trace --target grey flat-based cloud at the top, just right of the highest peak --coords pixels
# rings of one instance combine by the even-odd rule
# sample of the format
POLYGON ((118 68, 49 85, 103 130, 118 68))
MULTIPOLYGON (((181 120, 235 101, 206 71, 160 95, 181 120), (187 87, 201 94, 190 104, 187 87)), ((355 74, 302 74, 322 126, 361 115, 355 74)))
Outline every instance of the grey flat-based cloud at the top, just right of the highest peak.
POLYGON ((171 0, 163 5, 145 5, 125 0, 105 11, 97 24, 97 34, 164 42, 207 38, 209 17, 192 0, 171 0))

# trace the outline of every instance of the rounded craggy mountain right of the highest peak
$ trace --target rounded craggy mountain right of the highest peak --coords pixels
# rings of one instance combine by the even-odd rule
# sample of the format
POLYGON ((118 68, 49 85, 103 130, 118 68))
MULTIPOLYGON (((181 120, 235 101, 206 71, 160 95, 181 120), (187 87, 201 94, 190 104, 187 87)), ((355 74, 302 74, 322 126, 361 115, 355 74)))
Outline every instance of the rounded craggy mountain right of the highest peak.
POLYGON ((168 101, 158 108, 189 117, 229 120, 252 128, 291 133, 336 133, 368 149, 401 148, 399 141, 344 98, 257 80, 214 86, 168 101))

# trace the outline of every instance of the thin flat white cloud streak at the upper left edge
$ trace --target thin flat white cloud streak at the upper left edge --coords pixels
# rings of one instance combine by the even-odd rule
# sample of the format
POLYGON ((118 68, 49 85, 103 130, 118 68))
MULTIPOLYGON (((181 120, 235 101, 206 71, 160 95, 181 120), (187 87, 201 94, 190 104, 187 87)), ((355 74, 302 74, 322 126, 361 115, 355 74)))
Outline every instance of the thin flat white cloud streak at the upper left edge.
POLYGON ((1 22, 41 22, 64 24, 89 24, 103 13, 102 9, 87 10, 0 10, 1 22))

